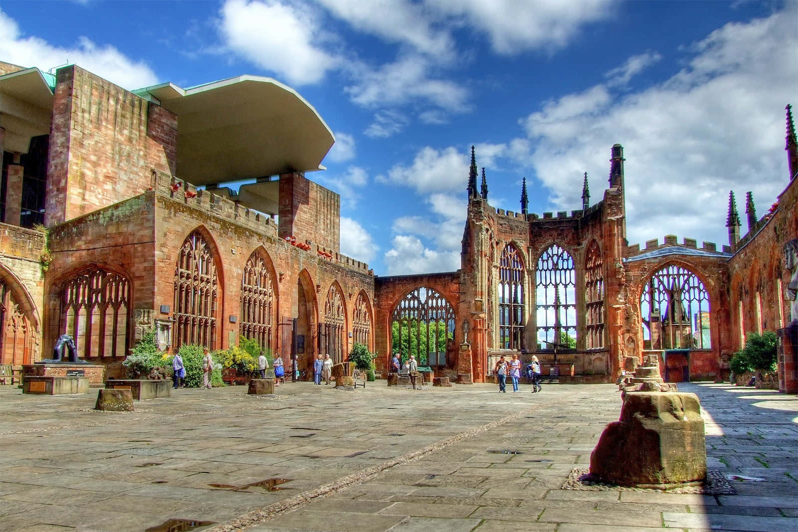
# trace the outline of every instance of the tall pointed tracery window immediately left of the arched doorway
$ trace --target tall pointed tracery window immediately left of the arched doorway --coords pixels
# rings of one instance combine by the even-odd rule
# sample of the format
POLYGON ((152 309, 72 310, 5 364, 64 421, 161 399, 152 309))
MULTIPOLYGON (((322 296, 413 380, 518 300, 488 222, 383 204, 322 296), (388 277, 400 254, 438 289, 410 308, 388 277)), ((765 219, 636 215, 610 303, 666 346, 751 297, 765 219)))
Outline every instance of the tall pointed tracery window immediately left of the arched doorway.
POLYGON ((255 250, 247 259, 241 280, 241 336, 255 340, 261 349, 271 349, 274 338, 275 286, 269 258, 255 250))

